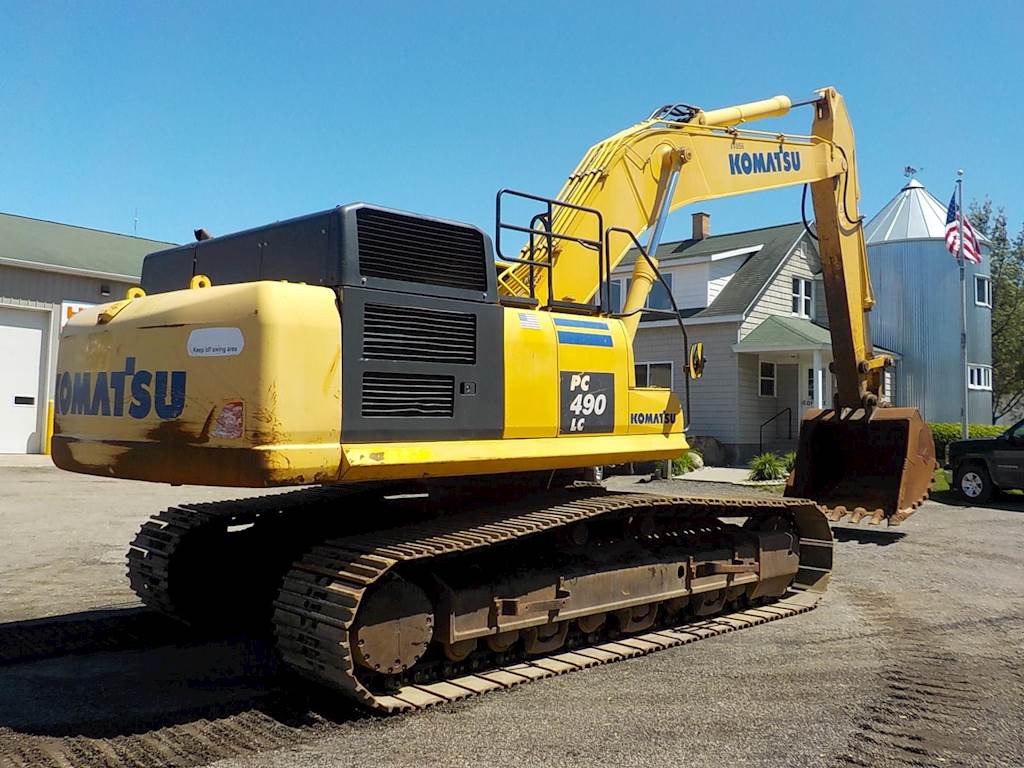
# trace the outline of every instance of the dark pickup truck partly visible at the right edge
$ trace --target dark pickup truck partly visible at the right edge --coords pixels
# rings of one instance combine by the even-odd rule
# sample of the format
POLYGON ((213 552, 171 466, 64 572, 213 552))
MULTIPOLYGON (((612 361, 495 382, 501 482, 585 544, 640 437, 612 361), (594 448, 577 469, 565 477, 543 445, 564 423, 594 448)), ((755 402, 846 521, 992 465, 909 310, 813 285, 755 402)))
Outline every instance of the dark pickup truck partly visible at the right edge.
POLYGON ((968 502, 982 503, 998 490, 1024 488, 1024 420, 998 437, 950 442, 945 467, 968 502))

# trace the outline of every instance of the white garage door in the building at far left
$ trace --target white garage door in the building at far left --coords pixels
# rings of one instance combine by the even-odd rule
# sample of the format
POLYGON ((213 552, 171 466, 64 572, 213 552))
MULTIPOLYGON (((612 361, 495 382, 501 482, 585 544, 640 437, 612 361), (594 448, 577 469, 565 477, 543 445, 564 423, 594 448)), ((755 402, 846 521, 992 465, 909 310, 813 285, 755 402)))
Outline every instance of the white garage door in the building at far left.
POLYGON ((49 314, 0 307, 0 454, 38 454, 43 334, 49 314))

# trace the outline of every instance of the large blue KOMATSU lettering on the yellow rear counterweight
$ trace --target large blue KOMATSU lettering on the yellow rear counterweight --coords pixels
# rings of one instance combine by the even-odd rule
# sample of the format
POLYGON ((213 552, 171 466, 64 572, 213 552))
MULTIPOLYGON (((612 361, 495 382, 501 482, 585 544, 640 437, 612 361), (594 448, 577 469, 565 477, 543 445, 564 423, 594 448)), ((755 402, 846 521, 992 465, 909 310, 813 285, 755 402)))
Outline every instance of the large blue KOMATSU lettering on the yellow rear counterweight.
POLYGON ((176 419, 185 408, 184 371, 135 370, 135 358, 125 357, 120 371, 57 374, 54 397, 61 416, 128 416, 144 419, 152 411, 161 419, 176 419))

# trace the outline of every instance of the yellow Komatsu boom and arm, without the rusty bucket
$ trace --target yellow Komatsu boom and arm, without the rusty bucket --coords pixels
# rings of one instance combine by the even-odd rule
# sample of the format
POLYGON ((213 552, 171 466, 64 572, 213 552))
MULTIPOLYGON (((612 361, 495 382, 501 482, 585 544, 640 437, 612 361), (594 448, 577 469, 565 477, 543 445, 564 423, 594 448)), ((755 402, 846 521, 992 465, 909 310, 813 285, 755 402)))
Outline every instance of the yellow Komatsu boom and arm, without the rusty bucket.
MULTIPOLYGON (((825 300, 831 324, 839 404, 873 407, 881 371, 890 358, 876 355, 865 316, 874 303, 867 255, 857 213, 859 186, 850 124, 843 97, 824 88, 812 102, 810 135, 754 131, 744 123, 785 115, 785 96, 705 112, 668 106, 650 119, 596 144, 584 156, 558 195, 572 208, 558 208, 551 228, 584 240, 591 221, 585 211, 599 210, 605 223, 659 236, 668 215, 684 206, 717 198, 809 184, 821 252, 825 300)), ((649 240, 653 258, 656 238, 649 240)), ((608 254, 614 268, 630 244, 622 239, 608 254)), ((543 245, 541 251, 543 251, 543 245)), ((550 280, 557 298, 589 302, 600 285, 592 249, 560 238, 551 255, 550 280)), ((547 258, 547 254, 542 254, 547 258)), ((655 262, 656 263, 656 262, 655 262)), ((527 267, 516 265, 501 275, 505 293, 525 296, 527 267)), ((548 273, 535 274, 535 293, 544 296, 548 273)), ((654 269, 637 259, 624 314, 630 337, 656 280, 654 269)))

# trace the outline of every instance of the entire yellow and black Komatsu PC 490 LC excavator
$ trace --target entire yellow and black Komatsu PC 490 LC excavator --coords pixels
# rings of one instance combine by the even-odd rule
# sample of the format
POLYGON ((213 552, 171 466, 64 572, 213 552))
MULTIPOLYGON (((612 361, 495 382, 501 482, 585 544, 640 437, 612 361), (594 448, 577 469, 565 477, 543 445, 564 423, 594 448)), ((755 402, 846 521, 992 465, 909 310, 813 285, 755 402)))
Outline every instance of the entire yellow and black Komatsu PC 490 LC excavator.
MULTIPOLYGON (((807 136, 745 127, 787 113, 784 96, 662 108, 592 147, 557 198, 499 193, 497 253, 476 227, 365 204, 197 230, 65 328, 53 460, 306 486, 160 512, 129 579, 184 622, 262 622, 285 665, 378 711, 806 611, 830 575, 826 515, 897 523, 935 461, 916 411, 879 402, 890 360, 868 334, 843 99, 802 105, 807 136), (679 399, 637 386, 633 366, 670 212, 796 184, 813 199, 838 388, 805 418, 785 497, 585 481, 687 450, 679 399), (608 279, 631 250, 618 311, 608 279)), ((696 378, 699 347, 688 357, 696 378)))

